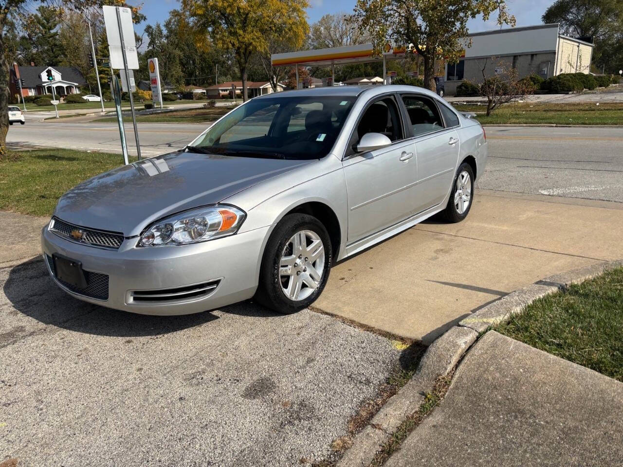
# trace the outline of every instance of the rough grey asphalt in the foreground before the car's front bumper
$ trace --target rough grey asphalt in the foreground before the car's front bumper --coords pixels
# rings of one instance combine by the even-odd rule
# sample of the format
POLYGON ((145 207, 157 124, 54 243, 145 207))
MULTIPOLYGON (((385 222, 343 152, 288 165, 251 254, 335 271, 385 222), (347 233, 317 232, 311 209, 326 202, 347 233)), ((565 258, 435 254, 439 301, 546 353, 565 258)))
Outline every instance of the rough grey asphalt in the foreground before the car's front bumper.
POLYGON ((0 462, 296 466, 331 453, 403 347, 250 303, 156 317, 70 298, 37 258, 0 268, 0 462))

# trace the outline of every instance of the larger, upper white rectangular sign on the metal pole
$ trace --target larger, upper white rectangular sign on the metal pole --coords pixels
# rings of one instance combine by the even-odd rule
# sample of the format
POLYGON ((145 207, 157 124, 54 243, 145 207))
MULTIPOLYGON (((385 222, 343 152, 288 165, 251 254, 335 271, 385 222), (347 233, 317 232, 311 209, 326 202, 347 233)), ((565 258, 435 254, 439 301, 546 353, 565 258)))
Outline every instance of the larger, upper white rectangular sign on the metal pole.
POLYGON ((130 70, 138 70, 138 54, 136 52, 136 39, 134 37, 134 25, 132 24, 132 12, 130 8, 117 6, 103 6, 104 23, 106 25, 106 37, 108 50, 110 51, 110 67, 117 70, 123 68, 123 53, 121 52, 121 36, 117 21, 117 9, 121 18, 121 32, 125 42, 125 54, 130 70))

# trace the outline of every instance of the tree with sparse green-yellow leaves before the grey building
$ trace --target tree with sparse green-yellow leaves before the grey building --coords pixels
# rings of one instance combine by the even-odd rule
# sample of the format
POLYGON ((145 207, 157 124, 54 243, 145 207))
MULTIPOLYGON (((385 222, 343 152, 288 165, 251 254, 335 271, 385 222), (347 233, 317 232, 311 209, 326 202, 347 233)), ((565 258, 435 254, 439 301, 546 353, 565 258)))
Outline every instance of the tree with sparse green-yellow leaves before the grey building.
POLYGON ((467 21, 487 21, 495 11, 499 25, 515 26, 504 0, 357 0, 353 19, 370 32, 377 54, 388 43, 411 46, 424 59, 424 86, 434 91, 435 59, 459 60, 471 45, 467 21))

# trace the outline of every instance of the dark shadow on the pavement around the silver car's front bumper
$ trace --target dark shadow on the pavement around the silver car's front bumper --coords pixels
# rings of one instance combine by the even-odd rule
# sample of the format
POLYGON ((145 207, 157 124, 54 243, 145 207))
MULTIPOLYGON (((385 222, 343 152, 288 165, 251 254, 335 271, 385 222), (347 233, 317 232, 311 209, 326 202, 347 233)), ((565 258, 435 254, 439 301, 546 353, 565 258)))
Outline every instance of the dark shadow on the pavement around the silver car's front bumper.
POLYGON ((181 316, 126 313, 77 300, 55 285, 40 258, 11 268, 3 290, 14 308, 9 314, 22 313, 40 323, 85 334, 158 336, 218 319, 209 312, 181 316))

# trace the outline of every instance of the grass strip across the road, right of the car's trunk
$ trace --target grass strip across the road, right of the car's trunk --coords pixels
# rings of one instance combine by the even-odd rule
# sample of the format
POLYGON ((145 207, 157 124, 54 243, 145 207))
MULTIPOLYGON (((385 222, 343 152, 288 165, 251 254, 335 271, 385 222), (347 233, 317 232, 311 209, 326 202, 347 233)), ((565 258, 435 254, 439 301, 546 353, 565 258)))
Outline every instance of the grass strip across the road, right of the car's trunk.
POLYGON ((623 125, 623 103, 530 103, 515 102, 498 107, 490 116, 485 105, 455 105, 459 111, 477 113, 483 125, 541 123, 556 125, 623 125))

